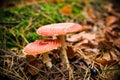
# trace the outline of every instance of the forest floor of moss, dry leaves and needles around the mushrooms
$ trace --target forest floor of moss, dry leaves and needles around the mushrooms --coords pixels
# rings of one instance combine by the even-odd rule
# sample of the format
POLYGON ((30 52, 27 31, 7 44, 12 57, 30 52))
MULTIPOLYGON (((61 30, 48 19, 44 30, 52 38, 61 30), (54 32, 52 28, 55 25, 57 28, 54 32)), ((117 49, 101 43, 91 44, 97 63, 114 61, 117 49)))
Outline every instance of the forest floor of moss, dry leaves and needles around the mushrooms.
POLYGON ((43 38, 36 34, 39 27, 61 22, 79 23, 85 28, 66 35, 73 80, 120 79, 117 2, 39 0, 34 4, 25 2, 17 6, 12 2, 10 8, 6 6, 0 10, 0 80, 69 80, 60 49, 50 52, 52 68, 43 63, 41 55, 22 53, 28 43, 43 38))

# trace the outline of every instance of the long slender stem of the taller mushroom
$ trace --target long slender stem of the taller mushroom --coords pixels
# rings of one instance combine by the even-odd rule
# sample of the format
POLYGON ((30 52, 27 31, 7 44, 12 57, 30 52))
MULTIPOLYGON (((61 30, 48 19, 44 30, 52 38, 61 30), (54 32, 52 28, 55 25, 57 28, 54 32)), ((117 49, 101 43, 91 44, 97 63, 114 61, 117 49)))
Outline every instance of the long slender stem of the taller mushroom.
POLYGON ((70 67, 70 63, 69 63, 69 60, 68 60, 68 57, 67 57, 67 52, 66 52, 67 46, 66 46, 66 42, 65 42, 65 36, 64 35, 60 35, 60 36, 58 36, 58 38, 60 39, 60 41, 62 43, 61 53, 63 54, 64 61, 65 61, 65 64, 67 66, 67 69, 69 70, 69 80, 73 80, 73 70, 70 67))

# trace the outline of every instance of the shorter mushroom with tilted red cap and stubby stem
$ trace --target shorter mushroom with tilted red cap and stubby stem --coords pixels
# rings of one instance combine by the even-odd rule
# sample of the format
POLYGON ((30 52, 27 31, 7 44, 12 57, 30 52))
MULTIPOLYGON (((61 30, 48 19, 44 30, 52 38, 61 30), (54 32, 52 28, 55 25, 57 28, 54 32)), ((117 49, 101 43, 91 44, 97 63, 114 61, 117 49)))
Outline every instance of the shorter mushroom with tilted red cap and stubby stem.
POLYGON ((51 59, 49 58, 48 52, 57 49, 61 46, 59 40, 36 40, 35 42, 29 43, 24 49, 23 53, 27 55, 43 55, 43 63, 46 63, 48 67, 52 67, 51 59))

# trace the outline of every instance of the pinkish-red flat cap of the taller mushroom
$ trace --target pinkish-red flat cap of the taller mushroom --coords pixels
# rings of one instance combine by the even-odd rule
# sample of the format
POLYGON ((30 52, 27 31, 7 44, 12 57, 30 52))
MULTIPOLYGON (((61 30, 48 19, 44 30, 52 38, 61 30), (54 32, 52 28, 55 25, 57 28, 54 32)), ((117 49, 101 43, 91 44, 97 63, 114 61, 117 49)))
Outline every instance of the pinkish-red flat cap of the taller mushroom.
POLYGON ((77 23, 56 23, 40 27, 37 30, 37 34, 43 36, 57 36, 81 31, 82 29, 82 26, 77 23))

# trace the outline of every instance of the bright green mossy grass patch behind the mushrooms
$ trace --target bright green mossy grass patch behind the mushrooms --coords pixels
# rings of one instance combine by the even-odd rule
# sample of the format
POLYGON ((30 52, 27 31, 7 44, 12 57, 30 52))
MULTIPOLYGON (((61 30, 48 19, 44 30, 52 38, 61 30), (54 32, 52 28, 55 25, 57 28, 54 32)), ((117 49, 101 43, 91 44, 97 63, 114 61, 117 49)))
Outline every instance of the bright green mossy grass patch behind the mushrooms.
MULTIPOLYGON (((69 1, 69 3, 74 3, 74 1, 69 1)), ((61 8, 66 4, 66 1, 40 2, 2 10, 0 12, 0 47, 22 49, 27 43, 39 39, 36 34, 38 27, 51 23, 73 22, 77 18, 79 20, 80 16, 77 15, 80 15, 82 9, 75 4, 71 4, 72 13, 70 16, 62 14, 61 8), (74 18, 74 16, 77 17, 74 18)))

